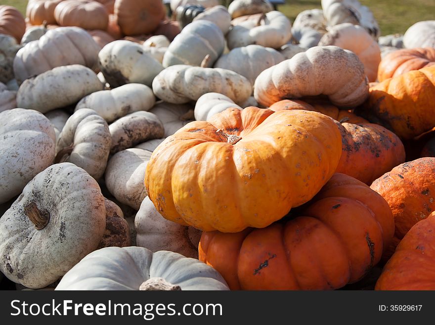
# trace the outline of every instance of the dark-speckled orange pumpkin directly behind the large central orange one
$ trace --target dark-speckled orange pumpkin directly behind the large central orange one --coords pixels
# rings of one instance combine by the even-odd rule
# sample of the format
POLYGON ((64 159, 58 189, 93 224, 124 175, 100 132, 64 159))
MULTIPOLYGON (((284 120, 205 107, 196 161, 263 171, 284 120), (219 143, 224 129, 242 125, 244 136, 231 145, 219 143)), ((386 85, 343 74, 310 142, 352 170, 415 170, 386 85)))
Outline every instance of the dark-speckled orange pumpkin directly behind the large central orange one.
POLYGON ((405 161, 405 149, 400 139, 386 128, 329 103, 301 100, 281 100, 269 109, 305 109, 321 112, 340 122, 342 156, 337 173, 343 173, 370 185, 374 180, 405 161))

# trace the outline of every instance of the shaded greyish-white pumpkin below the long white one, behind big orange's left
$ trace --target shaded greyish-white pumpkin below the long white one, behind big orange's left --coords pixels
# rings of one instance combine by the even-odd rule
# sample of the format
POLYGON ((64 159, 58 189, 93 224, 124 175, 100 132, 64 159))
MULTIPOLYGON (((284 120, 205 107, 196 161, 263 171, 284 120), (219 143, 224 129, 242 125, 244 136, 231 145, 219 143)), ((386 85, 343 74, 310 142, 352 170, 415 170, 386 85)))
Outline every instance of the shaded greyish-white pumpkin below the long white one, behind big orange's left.
POLYGON ((194 120, 193 109, 194 107, 190 104, 171 104, 161 101, 153 106, 150 112, 156 114, 162 121, 165 128, 164 137, 169 137, 194 120))

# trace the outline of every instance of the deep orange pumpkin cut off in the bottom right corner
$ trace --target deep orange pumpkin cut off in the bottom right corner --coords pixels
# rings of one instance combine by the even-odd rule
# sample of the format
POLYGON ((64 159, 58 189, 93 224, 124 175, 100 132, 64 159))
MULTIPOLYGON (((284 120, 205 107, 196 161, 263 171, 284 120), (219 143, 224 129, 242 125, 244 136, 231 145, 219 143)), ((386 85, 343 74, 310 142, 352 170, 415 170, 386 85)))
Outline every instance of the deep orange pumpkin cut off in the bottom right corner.
POLYGON ((403 237, 376 290, 435 290, 435 211, 403 237))

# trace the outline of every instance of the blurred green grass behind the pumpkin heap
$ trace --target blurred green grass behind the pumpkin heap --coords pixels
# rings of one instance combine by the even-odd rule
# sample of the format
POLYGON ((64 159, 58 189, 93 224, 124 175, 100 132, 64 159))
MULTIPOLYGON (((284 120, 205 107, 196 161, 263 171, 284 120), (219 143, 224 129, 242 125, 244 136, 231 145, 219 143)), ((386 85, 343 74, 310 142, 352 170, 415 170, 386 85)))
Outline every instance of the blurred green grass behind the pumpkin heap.
MULTIPOLYGON (((368 6, 379 26, 382 35, 403 34, 409 26, 422 20, 435 19, 434 0, 360 0, 368 6)), ((1 0, 1 4, 12 5, 26 13, 27 0, 1 0)), ((302 10, 321 8, 320 0, 286 0, 286 4, 279 5, 283 12, 293 22, 302 10)))

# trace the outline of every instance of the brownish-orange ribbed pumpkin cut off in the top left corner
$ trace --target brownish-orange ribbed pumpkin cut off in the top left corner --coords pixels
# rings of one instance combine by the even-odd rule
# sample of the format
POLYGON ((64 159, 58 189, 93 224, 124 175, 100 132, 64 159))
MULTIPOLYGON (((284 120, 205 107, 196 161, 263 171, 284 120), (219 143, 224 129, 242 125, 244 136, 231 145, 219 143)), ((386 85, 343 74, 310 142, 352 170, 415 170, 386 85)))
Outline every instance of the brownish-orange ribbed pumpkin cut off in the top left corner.
POLYGON ((18 43, 26 32, 23 15, 10 5, 0 5, 0 34, 13 36, 18 43))

